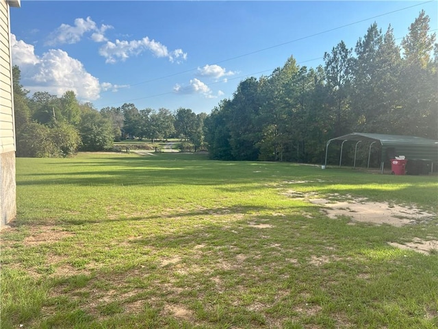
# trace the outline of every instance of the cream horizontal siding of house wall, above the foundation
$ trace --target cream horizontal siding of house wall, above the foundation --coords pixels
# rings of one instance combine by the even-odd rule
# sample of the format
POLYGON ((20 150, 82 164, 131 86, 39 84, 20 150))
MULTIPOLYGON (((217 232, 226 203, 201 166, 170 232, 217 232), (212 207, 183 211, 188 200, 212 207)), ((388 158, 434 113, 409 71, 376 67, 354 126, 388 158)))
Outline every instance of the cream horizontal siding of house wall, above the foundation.
POLYGON ((9 5, 0 0, 0 154, 15 151, 9 5))

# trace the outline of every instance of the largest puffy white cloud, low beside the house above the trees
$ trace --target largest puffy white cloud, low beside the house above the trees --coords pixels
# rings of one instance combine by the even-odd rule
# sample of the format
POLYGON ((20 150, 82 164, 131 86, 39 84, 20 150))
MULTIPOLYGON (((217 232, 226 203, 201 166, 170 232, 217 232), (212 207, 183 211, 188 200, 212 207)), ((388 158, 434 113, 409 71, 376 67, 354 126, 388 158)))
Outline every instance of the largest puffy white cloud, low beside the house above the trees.
POLYGON ((42 56, 36 56, 34 46, 23 40, 16 40, 11 34, 12 64, 20 66, 21 84, 32 93, 47 91, 61 96, 73 90, 78 99, 93 101, 99 99, 101 85, 83 64, 60 49, 50 49, 42 56))

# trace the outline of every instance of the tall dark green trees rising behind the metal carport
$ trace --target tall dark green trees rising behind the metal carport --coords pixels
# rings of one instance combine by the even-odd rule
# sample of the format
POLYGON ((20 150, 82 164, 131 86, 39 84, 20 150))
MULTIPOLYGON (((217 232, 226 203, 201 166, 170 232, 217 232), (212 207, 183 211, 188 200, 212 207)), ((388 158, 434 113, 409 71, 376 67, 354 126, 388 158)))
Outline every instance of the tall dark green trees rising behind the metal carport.
POLYGON ((354 51, 341 41, 315 69, 291 56, 272 74, 240 82, 205 121, 211 158, 322 163, 326 141, 351 132, 437 139, 429 21, 420 12, 401 47, 391 26, 383 33, 373 23, 354 51))

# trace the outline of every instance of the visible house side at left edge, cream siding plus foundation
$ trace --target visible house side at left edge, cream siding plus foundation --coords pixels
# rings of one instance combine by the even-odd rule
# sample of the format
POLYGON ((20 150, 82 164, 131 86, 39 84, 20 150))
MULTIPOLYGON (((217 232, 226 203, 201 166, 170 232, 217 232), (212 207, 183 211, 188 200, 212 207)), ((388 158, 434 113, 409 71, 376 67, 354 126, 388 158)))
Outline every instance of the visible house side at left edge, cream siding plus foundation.
POLYGON ((20 2, 0 0, 0 228, 16 216, 10 5, 19 6, 20 2))

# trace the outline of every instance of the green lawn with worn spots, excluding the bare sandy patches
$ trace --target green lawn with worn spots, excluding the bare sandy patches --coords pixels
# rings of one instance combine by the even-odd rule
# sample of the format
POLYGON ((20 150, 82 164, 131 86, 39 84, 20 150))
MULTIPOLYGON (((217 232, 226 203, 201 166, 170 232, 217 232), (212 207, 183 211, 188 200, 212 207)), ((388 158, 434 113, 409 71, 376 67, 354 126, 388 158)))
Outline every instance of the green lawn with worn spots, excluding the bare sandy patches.
POLYGON ((428 176, 192 154, 17 159, 1 328, 436 328, 438 220, 348 225, 288 195, 435 211, 428 176))

